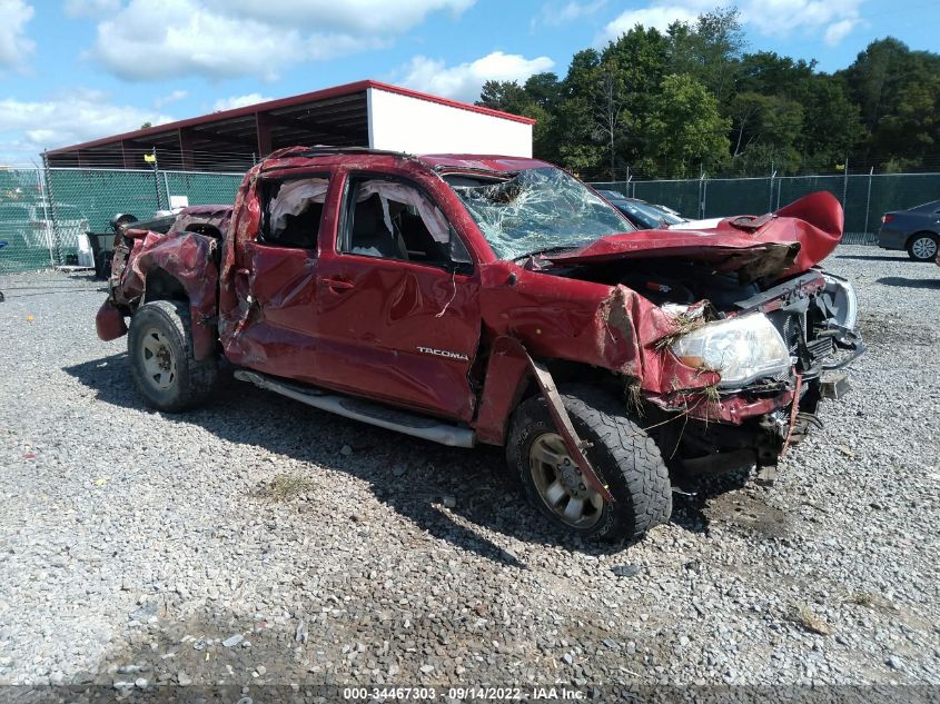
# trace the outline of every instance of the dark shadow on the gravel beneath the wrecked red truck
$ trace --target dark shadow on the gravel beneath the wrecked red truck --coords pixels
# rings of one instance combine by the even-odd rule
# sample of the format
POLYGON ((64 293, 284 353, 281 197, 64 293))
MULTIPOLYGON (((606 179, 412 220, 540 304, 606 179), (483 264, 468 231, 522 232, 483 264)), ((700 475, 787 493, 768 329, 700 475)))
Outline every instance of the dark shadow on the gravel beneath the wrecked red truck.
MULTIPOLYGON (((95 389, 98 400, 144 410, 128 366, 127 354, 119 354, 63 370, 95 389)), ((494 563, 527 568, 475 526, 592 555, 625 547, 590 543, 556 531, 530 508, 518 480, 506 472, 502 448, 467 450, 410 438, 264 391, 235 380, 227 371, 220 375, 215 399, 182 419, 226 440, 256 445, 363 479, 376 498, 433 536, 494 563), (340 454, 344 444, 353 449, 352 456, 340 454), (456 498, 451 513, 459 522, 442 510, 438 504, 444 496, 456 498)))

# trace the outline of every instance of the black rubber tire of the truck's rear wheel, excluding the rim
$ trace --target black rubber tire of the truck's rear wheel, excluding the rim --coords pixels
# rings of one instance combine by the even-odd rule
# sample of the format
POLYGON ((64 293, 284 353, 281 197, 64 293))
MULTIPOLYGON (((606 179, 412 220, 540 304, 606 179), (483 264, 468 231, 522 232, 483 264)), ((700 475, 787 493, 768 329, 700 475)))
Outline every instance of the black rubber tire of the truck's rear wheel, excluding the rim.
POLYGON ((218 359, 192 357, 192 330, 189 306, 177 300, 144 304, 130 319, 127 336, 130 374, 145 403, 151 408, 179 413, 201 405, 211 395, 218 378, 218 359), (176 377, 167 389, 156 388, 144 366, 144 336, 158 330, 176 360, 176 377))

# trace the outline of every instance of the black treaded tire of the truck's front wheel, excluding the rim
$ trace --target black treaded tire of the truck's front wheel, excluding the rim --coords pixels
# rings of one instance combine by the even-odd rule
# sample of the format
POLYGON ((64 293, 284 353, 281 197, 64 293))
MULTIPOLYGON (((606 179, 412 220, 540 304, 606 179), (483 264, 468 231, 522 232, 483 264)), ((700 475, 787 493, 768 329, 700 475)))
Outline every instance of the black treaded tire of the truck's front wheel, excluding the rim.
POLYGON ((560 389, 572 424, 592 443, 585 455, 615 502, 604 502, 601 517, 588 528, 561 522, 538 494, 530 468, 532 444, 556 433, 542 396, 527 399, 513 414, 506 460, 525 492, 544 515, 567 532, 603 541, 635 541, 672 515, 672 484, 660 448, 627 414, 623 403, 600 389, 571 385, 560 389))

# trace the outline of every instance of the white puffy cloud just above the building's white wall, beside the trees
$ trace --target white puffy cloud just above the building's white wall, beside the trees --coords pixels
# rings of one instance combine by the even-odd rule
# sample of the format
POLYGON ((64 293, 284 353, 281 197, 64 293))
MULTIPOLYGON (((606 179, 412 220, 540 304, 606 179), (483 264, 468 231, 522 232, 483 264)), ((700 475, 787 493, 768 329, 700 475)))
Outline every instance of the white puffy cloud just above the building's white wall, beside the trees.
POLYGON ((473 101, 487 80, 524 81, 555 65, 548 57, 526 59, 517 53, 494 51, 476 61, 447 68, 443 60, 417 56, 402 69, 402 82, 437 96, 473 101))

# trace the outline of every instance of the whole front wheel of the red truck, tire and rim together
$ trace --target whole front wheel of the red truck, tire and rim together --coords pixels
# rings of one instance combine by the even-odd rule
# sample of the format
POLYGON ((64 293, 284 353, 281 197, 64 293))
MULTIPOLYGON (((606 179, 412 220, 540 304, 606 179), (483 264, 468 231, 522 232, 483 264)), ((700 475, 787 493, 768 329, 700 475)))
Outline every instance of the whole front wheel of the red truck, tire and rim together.
POLYGON ((516 409, 506 447, 530 500, 558 526, 605 541, 633 541, 669 522, 669 470, 623 405, 585 386, 568 387, 562 400, 578 435, 592 444, 585 455, 615 502, 605 502, 584 482, 541 396, 516 409))

